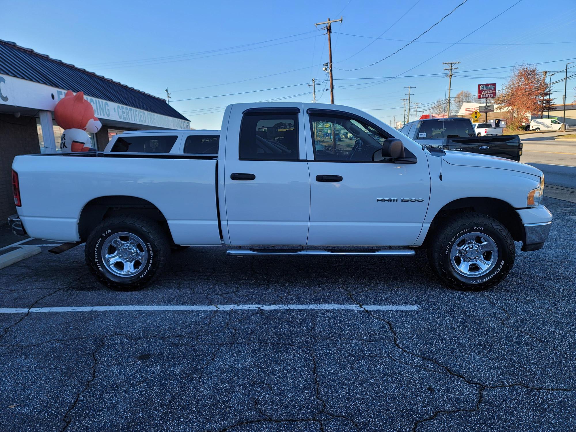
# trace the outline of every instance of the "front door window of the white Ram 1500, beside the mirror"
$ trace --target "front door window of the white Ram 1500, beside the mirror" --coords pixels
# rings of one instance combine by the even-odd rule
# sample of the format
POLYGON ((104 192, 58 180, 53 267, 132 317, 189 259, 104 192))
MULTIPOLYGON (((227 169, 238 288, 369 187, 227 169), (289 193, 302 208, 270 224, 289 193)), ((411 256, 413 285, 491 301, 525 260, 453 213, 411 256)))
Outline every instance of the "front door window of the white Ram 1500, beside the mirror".
POLYGON ((345 115, 312 114, 310 125, 314 159, 320 161, 372 161, 387 138, 367 122, 345 115))

